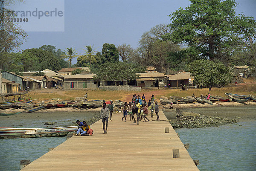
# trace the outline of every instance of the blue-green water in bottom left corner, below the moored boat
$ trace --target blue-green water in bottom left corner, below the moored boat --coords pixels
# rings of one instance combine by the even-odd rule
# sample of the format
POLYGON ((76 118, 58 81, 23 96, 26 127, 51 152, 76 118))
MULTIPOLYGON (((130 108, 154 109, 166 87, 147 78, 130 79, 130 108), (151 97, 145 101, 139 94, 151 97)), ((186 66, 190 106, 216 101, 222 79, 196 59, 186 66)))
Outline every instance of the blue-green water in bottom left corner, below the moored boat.
POLYGON ((0 171, 19 171, 20 160, 38 159, 66 137, 0 139, 0 171))

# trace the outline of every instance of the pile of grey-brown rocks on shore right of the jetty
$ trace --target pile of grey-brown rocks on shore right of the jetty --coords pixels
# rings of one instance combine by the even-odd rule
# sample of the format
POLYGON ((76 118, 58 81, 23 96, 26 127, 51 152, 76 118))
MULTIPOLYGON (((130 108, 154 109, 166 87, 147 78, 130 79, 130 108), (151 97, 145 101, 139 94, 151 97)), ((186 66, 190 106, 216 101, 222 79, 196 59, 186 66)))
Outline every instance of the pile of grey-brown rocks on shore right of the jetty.
POLYGON ((204 116, 201 114, 186 114, 183 115, 181 109, 177 109, 177 121, 171 123, 172 127, 177 128, 204 128, 204 127, 218 127, 220 125, 238 123, 236 120, 229 120, 227 118, 204 116))

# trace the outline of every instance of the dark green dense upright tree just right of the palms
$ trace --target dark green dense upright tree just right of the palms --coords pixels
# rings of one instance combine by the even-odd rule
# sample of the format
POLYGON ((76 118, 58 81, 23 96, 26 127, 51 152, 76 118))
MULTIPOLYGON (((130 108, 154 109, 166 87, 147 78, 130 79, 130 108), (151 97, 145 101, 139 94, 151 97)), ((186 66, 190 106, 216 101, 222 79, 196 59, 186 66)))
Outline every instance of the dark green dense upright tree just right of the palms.
POLYGON ((107 62, 117 62, 119 60, 119 56, 116 46, 114 44, 104 43, 102 46, 102 57, 105 58, 107 62))

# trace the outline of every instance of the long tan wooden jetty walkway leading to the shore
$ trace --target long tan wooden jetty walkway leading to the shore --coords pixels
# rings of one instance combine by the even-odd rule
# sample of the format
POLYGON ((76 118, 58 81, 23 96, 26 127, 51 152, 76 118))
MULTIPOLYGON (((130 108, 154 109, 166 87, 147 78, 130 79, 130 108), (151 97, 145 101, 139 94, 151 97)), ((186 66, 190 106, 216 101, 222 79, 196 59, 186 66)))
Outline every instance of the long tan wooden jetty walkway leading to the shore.
POLYGON ((108 134, 102 134, 100 120, 91 125, 93 136, 73 136, 22 171, 199 171, 169 122, 137 125, 121 117, 113 114, 108 134), (173 158, 173 149, 179 149, 179 158, 173 158))

